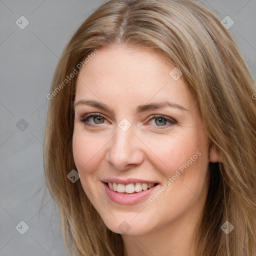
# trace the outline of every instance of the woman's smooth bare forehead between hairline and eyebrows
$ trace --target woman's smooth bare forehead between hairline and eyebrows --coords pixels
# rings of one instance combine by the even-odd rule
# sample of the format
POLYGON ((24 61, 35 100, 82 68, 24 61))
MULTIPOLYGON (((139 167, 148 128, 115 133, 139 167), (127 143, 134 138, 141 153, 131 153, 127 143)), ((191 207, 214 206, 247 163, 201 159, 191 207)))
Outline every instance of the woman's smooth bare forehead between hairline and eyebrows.
POLYGON ((182 76, 174 80, 169 74, 174 67, 150 50, 102 48, 79 72, 75 101, 92 97, 112 104, 189 102, 191 95, 182 76))

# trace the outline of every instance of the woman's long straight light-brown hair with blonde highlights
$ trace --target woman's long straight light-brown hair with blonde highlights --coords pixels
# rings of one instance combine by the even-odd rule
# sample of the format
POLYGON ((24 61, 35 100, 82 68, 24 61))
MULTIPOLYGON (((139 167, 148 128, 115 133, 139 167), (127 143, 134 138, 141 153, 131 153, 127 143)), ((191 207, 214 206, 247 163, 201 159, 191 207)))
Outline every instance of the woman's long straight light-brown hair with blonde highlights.
POLYGON ((192 0, 109 0, 80 25, 63 50, 48 94, 44 167, 68 253, 123 255, 120 234, 105 226, 80 181, 67 178, 75 169, 77 74, 65 78, 95 49, 115 45, 153 50, 182 71, 209 143, 222 157, 219 163, 209 163, 210 186, 196 255, 256 255, 255 85, 220 19, 192 0), (220 228, 225 221, 234 226, 229 234, 220 228))

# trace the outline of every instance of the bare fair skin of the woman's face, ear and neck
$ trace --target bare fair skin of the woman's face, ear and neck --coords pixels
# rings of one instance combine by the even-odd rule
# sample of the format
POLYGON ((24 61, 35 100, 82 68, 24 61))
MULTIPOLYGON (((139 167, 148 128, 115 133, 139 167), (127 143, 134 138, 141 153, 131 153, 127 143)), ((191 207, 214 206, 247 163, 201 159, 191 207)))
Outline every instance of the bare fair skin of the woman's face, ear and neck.
POLYGON ((129 231, 121 234, 128 256, 194 255, 195 227, 208 190, 208 162, 217 161, 182 76, 174 80, 169 75, 173 68, 151 51, 116 46, 100 49, 78 74, 75 103, 96 100, 112 111, 75 105, 75 165, 84 192, 106 226, 121 233, 118 226, 128 223, 129 231), (167 106, 135 112, 137 105, 165 100, 187 110, 167 106), (83 116, 94 112, 104 119, 90 117, 86 123, 92 126, 85 125, 83 116), (161 124, 153 114, 177 123, 163 119, 161 124), (123 118, 132 124, 125 132, 118 127, 123 118), (140 178, 162 186, 197 151, 200 156, 153 202, 145 198, 123 205, 105 193, 105 178, 140 178))

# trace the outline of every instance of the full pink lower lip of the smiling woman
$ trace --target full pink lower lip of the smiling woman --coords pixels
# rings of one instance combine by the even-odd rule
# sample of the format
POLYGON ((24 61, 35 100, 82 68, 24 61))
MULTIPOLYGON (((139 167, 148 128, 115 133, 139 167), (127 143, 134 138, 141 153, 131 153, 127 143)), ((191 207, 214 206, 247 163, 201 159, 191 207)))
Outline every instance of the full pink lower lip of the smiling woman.
POLYGON ((109 186, 107 184, 105 184, 104 182, 102 182, 102 183, 105 187, 106 194, 109 196, 109 198, 112 201, 121 203, 121 204, 138 203, 138 202, 142 201, 143 199, 145 199, 146 197, 148 197, 150 195, 150 193, 152 193, 153 190, 159 185, 159 184, 157 184, 156 186, 153 186, 147 190, 142 190, 141 192, 136 192, 136 193, 118 193, 118 192, 115 192, 114 190, 110 189, 109 186))

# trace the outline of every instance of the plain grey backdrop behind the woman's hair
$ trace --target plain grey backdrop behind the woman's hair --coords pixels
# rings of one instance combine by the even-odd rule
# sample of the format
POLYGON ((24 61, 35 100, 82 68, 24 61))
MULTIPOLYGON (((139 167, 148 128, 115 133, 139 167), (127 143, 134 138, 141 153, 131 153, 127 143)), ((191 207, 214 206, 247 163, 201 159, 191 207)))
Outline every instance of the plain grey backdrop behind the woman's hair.
MULTIPOLYGON (((45 190, 46 94, 64 45, 102 2, 0 0, 1 256, 67 255, 58 211, 45 190), (29 21, 24 29, 15 23, 22 15, 29 21), (25 230, 21 220, 29 226, 24 234, 15 228, 18 224, 18 230, 25 230)), ((220 20, 226 15, 234 20, 229 30, 255 81, 256 0, 207 0, 207 4, 220 20)))

